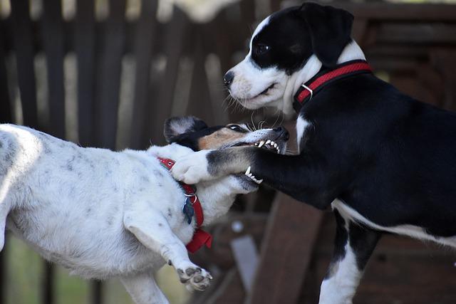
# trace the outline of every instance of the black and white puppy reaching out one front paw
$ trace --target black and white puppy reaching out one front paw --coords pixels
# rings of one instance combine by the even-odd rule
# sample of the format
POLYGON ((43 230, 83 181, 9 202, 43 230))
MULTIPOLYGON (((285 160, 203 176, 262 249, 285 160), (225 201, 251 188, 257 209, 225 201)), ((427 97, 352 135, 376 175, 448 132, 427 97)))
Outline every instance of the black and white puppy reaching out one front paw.
POLYGON ((383 231, 456 247, 456 115, 376 78, 352 22, 312 3, 279 11, 224 76, 245 108, 299 112, 299 155, 233 147, 183 157, 172 171, 195 183, 251 166, 271 187, 331 206, 338 228, 320 303, 351 303, 383 231))

